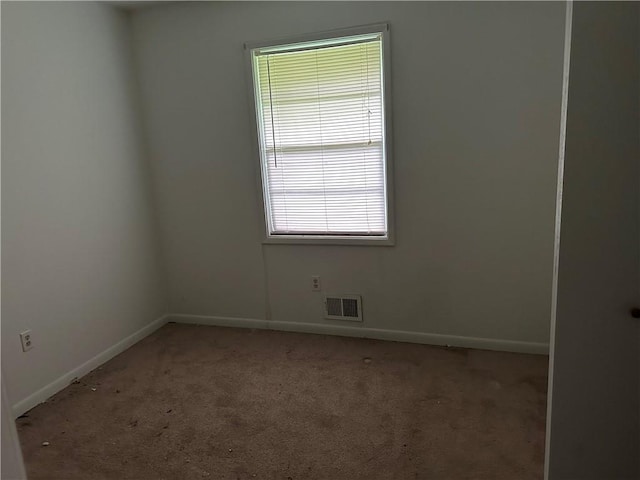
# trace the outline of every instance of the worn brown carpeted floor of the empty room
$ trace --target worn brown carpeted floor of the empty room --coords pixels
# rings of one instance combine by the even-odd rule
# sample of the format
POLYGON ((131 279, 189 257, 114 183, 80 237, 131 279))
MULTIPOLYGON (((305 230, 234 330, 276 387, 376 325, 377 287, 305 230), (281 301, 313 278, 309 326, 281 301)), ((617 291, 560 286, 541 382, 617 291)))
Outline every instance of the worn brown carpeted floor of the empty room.
POLYGON ((539 479, 547 363, 170 323, 17 425, 31 480, 539 479))

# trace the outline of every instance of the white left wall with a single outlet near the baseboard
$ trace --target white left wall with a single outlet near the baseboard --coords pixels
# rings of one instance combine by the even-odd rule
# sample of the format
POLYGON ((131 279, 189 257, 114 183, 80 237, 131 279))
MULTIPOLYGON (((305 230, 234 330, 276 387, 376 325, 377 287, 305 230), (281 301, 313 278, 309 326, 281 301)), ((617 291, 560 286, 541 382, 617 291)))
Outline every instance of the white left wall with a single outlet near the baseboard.
POLYGON ((166 312, 132 70, 124 13, 3 2, 2 366, 22 408, 166 312))

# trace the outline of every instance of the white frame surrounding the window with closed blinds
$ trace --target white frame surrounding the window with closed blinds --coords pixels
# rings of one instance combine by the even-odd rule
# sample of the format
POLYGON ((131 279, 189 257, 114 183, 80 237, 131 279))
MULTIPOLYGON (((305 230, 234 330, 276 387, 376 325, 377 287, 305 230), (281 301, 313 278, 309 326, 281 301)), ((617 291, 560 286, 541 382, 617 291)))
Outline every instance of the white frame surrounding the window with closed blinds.
POLYGON ((362 25, 350 28, 341 28, 325 32, 316 32, 303 35, 292 35, 284 38, 277 38, 267 41, 247 42, 244 44, 245 66, 247 69, 247 86, 249 90, 249 104, 251 108, 251 124, 253 139, 254 157, 257 162, 257 183, 260 192, 260 215, 262 222, 262 231, 264 232, 263 244, 311 244, 311 245, 379 245, 392 246, 395 245, 395 223, 394 223, 394 194, 393 194, 393 161, 392 161, 392 128, 391 128, 391 60, 390 60, 390 44, 389 44, 389 24, 376 23, 371 25, 362 25), (260 128, 258 119, 258 109, 256 95, 258 94, 255 85, 253 71, 253 53, 252 50, 266 47, 286 46, 290 44, 322 41, 340 37, 351 37, 356 35, 366 35, 379 33, 382 35, 382 88, 383 88, 383 105, 384 105, 384 155, 385 155, 385 189, 386 189, 386 215, 387 215, 387 234, 386 235, 302 235, 302 234, 272 234, 269 230, 268 209, 269 196, 265 191, 266 185, 264 181, 265 165, 262 161, 262 152, 260 147, 260 128))

